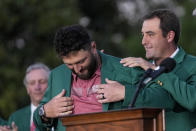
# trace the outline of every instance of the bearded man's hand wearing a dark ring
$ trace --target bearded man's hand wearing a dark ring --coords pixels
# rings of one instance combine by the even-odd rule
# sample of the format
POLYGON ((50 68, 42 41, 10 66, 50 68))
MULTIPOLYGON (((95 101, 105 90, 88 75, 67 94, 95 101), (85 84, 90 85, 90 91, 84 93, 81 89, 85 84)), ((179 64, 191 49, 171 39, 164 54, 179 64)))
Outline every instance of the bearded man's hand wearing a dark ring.
POLYGON ((106 78, 107 84, 99 85, 97 99, 100 103, 108 103, 123 100, 125 97, 125 87, 117 81, 106 78), (104 97, 104 99, 103 99, 104 97))

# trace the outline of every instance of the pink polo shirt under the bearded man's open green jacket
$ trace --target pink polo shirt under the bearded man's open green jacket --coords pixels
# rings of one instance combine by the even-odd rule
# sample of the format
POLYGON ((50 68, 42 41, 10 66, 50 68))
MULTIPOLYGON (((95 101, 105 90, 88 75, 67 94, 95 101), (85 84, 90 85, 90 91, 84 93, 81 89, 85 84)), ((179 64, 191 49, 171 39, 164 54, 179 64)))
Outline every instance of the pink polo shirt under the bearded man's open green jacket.
POLYGON ((103 111, 102 104, 97 101, 97 94, 92 88, 101 84, 100 66, 89 80, 82 80, 73 73, 72 77, 71 97, 74 99, 73 114, 103 111))

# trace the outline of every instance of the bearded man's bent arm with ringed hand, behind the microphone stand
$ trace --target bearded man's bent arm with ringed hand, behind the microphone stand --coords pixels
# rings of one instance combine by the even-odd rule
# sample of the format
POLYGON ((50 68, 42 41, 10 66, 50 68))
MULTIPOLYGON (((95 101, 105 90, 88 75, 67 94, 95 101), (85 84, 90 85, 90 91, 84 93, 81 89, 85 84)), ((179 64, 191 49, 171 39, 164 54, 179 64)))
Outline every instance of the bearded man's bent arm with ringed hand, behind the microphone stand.
MULTIPOLYGON (((107 84, 101 84, 98 90, 97 99, 100 103, 115 102, 123 100, 123 107, 129 107, 129 104, 135 94, 136 88, 133 85, 122 85, 116 81, 108 81, 107 84), (105 99, 103 99, 104 94, 105 99)), ((173 98, 162 89, 156 82, 150 82, 143 88, 136 100, 136 107, 157 107, 165 109, 173 109, 175 101, 173 98)))

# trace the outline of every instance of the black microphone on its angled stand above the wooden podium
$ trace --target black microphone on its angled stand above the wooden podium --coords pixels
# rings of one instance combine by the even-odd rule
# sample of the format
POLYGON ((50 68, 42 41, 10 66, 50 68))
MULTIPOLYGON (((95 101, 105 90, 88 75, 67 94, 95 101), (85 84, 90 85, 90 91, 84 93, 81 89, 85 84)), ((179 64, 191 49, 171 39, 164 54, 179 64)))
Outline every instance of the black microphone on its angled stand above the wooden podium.
POLYGON ((160 64, 160 68, 156 71, 153 71, 151 68, 149 68, 143 75, 142 79, 139 82, 139 85, 135 91, 135 95, 132 99, 131 102, 131 106, 130 108, 133 108, 137 99, 137 96, 139 94, 139 91, 141 88, 143 88, 148 82, 150 82, 151 80, 154 80, 155 78, 157 78, 160 74, 162 73, 168 73, 170 71, 172 71, 174 69, 174 67, 176 66, 176 61, 172 58, 166 58, 164 59, 161 64, 160 64))

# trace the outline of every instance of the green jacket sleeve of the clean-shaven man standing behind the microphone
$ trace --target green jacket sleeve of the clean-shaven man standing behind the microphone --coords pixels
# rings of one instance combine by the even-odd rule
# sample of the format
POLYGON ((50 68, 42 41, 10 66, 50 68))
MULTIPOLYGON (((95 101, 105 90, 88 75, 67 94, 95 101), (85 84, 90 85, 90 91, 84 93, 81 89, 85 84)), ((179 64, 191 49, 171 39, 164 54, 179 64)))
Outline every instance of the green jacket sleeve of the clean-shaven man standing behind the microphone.
POLYGON ((187 80, 180 79, 174 73, 162 74, 159 79, 167 90, 182 107, 189 111, 196 109, 196 74, 192 74, 187 80))

